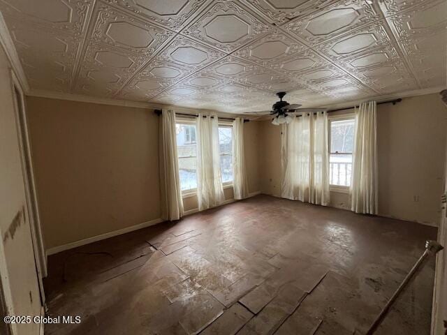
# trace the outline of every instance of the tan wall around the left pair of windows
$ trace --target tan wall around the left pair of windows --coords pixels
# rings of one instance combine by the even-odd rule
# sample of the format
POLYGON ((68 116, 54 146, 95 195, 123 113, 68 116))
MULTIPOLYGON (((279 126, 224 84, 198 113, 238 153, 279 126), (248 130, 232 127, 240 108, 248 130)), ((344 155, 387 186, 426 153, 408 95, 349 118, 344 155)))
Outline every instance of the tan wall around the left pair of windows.
MULTIPOLYGON (((27 98, 45 247, 160 218, 159 118, 152 110, 27 98)), ((249 191, 258 185, 258 123, 244 125, 249 191)), ((233 188, 224 190, 233 199, 233 188)), ((184 198, 185 211, 197 209, 184 198)))

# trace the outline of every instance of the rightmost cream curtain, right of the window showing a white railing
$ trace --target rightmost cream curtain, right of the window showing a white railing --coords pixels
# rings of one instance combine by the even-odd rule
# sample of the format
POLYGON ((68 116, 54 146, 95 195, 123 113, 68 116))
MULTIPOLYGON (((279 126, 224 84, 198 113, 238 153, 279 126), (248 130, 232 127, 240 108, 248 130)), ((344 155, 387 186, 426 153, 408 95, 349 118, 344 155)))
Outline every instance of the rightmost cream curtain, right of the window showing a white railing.
POLYGON ((351 210, 356 213, 377 214, 379 202, 376 102, 361 103, 355 112, 351 210))

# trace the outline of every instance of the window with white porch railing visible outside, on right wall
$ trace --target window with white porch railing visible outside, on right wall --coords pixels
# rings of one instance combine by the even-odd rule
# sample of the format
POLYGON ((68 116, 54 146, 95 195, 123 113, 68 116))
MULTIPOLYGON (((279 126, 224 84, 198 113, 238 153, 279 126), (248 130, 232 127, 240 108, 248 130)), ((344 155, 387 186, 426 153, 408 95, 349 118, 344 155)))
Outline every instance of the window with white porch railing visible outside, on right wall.
POLYGON ((348 187, 351 184, 354 118, 330 119, 329 122, 329 183, 348 187))

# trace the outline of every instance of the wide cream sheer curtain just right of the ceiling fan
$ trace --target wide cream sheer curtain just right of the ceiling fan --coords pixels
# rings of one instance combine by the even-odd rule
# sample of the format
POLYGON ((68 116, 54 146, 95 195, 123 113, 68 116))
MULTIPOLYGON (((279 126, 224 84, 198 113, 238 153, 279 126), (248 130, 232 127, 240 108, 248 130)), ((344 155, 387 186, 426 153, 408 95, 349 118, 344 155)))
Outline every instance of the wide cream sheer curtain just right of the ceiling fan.
POLYGON ((283 124, 281 197, 329 203, 328 114, 302 114, 283 124))

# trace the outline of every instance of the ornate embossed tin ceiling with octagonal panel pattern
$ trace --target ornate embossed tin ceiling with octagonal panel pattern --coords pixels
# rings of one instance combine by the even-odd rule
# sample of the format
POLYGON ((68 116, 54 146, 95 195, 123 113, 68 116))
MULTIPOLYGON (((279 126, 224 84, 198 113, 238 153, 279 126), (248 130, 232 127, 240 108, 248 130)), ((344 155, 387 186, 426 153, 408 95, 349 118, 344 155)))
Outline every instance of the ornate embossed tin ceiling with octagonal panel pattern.
POLYGON ((222 112, 446 84, 445 0, 0 0, 31 89, 222 112))

